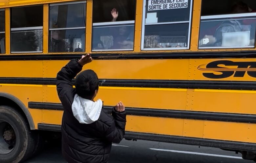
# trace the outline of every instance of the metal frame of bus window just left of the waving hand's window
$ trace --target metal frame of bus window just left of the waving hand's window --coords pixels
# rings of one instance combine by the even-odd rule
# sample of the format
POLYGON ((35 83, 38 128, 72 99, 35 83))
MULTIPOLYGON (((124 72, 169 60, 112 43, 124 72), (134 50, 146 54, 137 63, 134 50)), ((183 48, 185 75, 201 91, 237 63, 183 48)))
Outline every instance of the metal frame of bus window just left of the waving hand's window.
MULTIPOLYGON (((87 1, 86 0, 82 0, 82 1, 70 1, 70 2, 60 2, 60 3, 51 3, 49 4, 49 17, 48 17, 48 20, 50 20, 50 7, 51 6, 61 6, 61 5, 74 5, 74 4, 83 4, 85 3, 85 9, 87 11, 87 1)), ((68 28, 50 28, 50 22, 48 22, 48 53, 53 53, 53 54, 57 54, 57 53, 85 53, 86 50, 82 51, 82 52, 50 52, 50 31, 53 31, 53 30, 72 30, 72 29, 84 29, 85 33, 84 33, 84 36, 85 36, 85 40, 84 40, 84 49, 86 49, 86 16, 87 16, 87 12, 85 12, 85 25, 84 27, 68 27, 68 28)))

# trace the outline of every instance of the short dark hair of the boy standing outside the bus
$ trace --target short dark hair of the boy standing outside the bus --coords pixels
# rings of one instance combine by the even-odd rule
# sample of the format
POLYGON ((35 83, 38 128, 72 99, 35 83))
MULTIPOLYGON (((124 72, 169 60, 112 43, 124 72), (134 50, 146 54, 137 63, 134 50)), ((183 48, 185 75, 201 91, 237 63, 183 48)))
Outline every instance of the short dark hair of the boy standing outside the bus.
POLYGON ((75 79, 76 94, 84 99, 92 100, 94 93, 99 89, 99 80, 93 70, 85 70, 75 79))

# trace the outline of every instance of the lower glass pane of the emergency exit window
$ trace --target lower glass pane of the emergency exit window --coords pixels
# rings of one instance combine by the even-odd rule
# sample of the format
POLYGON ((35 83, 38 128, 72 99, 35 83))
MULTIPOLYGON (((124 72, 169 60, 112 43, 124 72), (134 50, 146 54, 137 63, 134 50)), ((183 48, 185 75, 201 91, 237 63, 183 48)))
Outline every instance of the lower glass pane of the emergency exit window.
POLYGON ((144 48, 187 47, 189 25, 148 25, 145 26, 144 48))

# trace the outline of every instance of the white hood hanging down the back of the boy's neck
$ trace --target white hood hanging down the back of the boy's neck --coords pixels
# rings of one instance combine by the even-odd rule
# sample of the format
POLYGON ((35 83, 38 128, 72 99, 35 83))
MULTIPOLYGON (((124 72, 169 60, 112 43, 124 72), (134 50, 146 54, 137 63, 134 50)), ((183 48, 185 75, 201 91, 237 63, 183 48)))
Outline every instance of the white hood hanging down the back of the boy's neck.
POLYGON ((99 119, 102 109, 102 101, 91 101, 75 94, 72 103, 72 112, 74 117, 82 124, 90 124, 99 119))

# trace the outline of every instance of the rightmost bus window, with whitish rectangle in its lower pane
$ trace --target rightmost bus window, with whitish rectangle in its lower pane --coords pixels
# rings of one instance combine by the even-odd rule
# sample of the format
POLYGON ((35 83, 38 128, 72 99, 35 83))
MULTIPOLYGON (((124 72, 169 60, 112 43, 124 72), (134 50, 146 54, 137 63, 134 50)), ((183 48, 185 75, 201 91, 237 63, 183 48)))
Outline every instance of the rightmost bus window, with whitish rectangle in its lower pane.
POLYGON ((255 6, 255 1, 203 0, 199 48, 255 47, 255 6))

